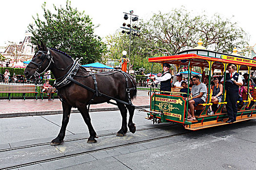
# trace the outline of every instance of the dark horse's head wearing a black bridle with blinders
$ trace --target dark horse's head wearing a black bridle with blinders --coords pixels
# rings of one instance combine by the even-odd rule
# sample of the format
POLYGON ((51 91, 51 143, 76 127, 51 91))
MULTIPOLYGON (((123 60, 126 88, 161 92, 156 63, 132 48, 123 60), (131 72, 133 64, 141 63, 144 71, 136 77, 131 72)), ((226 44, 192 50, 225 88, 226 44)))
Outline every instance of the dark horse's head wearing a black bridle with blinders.
POLYGON ((38 78, 45 71, 50 69, 50 65, 53 61, 49 49, 47 49, 42 42, 41 45, 38 44, 38 49, 32 61, 24 70, 24 75, 28 79, 38 78))

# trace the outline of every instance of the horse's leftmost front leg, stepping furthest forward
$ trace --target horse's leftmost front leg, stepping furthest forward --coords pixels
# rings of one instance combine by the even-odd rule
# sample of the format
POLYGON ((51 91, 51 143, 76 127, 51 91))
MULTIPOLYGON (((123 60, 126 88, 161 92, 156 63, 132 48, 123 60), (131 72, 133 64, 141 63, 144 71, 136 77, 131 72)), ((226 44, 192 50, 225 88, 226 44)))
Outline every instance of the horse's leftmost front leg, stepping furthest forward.
POLYGON ((60 145, 61 143, 63 143, 63 139, 65 137, 65 132, 66 132, 66 128, 67 128, 67 124, 69 121, 69 116, 70 116, 70 112, 71 112, 71 106, 65 104, 64 102, 62 102, 62 108, 63 108, 63 117, 62 117, 62 124, 61 124, 61 128, 59 131, 59 135, 52 140, 51 145, 55 146, 55 145, 60 145))

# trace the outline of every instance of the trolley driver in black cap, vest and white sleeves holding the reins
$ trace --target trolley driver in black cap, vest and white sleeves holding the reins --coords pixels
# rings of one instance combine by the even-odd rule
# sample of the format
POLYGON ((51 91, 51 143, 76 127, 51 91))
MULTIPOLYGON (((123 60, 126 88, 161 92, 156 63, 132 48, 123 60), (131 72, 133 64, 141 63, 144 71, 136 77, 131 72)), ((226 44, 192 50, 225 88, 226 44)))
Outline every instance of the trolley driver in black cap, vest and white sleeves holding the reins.
MULTIPOLYGON (((161 82, 160 84, 160 91, 171 91, 171 78, 172 78, 172 74, 170 73, 169 69, 170 69, 171 65, 169 65, 168 63, 164 63, 163 64, 163 74, 161 75, 161 77, 150 77, 151 80, 154 80, 155 84, 158 84, 161 82)), ((151 85, 151 83, 149 83, 149 85, 151 85)), ((170 93, 163 93, 163 94, 170 94, 170 93)))

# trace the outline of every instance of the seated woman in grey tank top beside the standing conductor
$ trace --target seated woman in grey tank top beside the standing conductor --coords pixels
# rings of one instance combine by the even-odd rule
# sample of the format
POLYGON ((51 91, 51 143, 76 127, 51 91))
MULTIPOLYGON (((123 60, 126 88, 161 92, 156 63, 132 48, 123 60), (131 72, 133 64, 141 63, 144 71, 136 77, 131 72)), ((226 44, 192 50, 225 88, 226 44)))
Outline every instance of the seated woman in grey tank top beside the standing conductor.
MULTIPOLYGON (((213 95, 211 102, 222 102, 223 85, 218 84, 218 78, 214 78, 214 86, 212 86, 213 95)), ((214 115, 212 106, 210 106, 210 112, 207 115, 214 115)))

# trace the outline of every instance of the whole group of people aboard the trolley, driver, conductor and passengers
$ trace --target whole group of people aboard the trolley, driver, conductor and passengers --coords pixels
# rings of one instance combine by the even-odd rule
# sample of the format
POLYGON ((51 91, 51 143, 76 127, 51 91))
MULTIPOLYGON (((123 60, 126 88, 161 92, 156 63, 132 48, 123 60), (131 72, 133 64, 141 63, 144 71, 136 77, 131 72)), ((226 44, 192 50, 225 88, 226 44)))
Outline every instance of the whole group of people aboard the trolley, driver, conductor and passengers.
MULTIPOLYGON (((172 75, 169 71, 170 65, 167 63, 163 64, 163 71, 164 73, 161 77, 151 77, 150 79, 153 80, 154 84, 160 83, 160 91, 163 91, 162 94, 170 94, 168 92, 171 91, 171 87, 180 88, 181 95, 185 100, 188 100, 190 96, 192 96, 189 100, 189 108, 188 108, 188 118, 187 120, 193 121, 196 120, 195 117, 195 107, 199 103, 205 103, 207 98, 208 87, 212 89, 212 98, 211 102, 224 102, 223 99, 223 84, 224 84, 224 77, 212 77, 205 76, 204 80, 200 81, 200 77, 198 75, 194 75, 191 78, 188 84, 188 80, 183 78, 181 73, 176 74, 177 82, 171 85, 172 75), (211 81, 209 81, 209 79, 211 81), (220 82, 220 83, 219 83, 220 82), (210 85, 209 85, 210 84, 210 85)), ((226 109, 229 119, 226 121, 227 123, 232 123, 236 121, 236 114, 237 114, 237 106, 242 103, 243 94, 247 94, 247 84, 249 82, 249 98, 252 99, 253 90, 255 88, 255 83, 252 79, 249 79, 249 74, 243 74, 244 79, 242 76, 236 72, 236 66, 234 64, 230 64, 227 67, 228 73, 226 73, 225 79, 225 90, 226 90, 226 109), (249 81, 248 81, 249 79, 249 81), (239 102, 237 102, 239 101, 239 102)), ((149 85, 151 85, 149 83, 149 85)), ((246 109, 250 109, 253 106, 253 102, 246 109)), ((207 111, 207 115, 214 115, 214 111, 212 106, 209 107, 207 111)))

